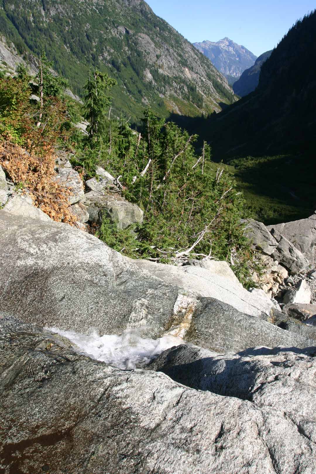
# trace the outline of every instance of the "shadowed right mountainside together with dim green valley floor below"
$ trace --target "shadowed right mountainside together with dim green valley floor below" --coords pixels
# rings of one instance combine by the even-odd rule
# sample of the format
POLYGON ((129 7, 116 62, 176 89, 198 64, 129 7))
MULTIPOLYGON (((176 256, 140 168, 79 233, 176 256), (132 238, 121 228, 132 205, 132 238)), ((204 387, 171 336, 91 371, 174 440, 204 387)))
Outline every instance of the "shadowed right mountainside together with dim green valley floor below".
POLYGON ((315 210, 315 57, 316 10, 272 51, 254 92, 204 121, 213 159, 234 165, 257 218, 271 224, 315 210))

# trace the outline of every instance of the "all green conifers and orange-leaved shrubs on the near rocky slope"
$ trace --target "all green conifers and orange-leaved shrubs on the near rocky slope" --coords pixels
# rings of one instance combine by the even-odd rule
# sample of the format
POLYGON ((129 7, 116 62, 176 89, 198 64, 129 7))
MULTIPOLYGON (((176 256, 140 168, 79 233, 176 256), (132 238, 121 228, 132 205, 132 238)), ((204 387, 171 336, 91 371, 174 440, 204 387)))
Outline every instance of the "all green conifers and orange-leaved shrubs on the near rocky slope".
POLYGON ((54 220, 74 224, 67 211, 69 190, 57 189, 54 182, 54 150, 72 150, 72 166, 83 178, 95 176, 97 166, 103 166, 117 177, 121 195, 144 210, 143 223, 124 230, 105 215, 93 232, 108 245, 134 258, 159 262, 224 259, 246 285, 251 284, 252 252, 239 224, 243 196, 227 173, 214 169, 208 144, 196 155, 197 136, 157 118, 150 108, 140 134, 126 120, 109 118, 108 93, 116 82, 95 69, 84 86, 89 125, 83 135, 72 126, 73 106, 63 95, 66 82, 48 66, 43 56, 36 78, 19 67, 15 77, 0 79, 5 140, 1 165, 9 179, 54 220), (29 100, 29 84, 37 101, 29 100))

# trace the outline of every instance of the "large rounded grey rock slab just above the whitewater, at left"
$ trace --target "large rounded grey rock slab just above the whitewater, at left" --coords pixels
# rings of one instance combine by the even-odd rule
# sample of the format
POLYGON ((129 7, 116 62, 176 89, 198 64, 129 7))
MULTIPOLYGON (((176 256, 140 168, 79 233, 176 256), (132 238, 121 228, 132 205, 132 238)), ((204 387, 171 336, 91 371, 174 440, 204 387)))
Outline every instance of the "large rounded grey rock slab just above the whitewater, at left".
POLYGON ((84 333, 172 325, 178 289, 138 269, 97 237, 67 224, 0 210, 1 310, 84 333))

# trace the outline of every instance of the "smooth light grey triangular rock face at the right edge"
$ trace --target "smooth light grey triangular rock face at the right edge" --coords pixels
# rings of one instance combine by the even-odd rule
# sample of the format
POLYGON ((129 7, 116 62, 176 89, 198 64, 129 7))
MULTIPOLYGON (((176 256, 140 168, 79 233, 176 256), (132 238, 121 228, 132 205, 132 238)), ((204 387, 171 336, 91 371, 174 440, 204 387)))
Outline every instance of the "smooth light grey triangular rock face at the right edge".
POLYGON ((278 230, 307 258, 309 264, 316 266, 316 213, 307 219, 267 227, 278 230))

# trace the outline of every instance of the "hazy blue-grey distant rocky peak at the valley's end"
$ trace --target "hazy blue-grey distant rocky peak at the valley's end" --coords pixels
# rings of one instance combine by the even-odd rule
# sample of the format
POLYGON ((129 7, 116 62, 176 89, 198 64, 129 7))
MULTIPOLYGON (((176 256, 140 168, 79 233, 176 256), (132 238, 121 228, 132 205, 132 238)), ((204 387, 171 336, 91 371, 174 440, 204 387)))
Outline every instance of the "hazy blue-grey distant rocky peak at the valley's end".
POLYGON ((205 40, 201 43, 193 44, 225 76, 239 77, 245 69, 253 65, 257 58, 247 48, 237 45, 237 43, 234 43, 234 41, 227 37, 220 39, 216 43, 205 40))

